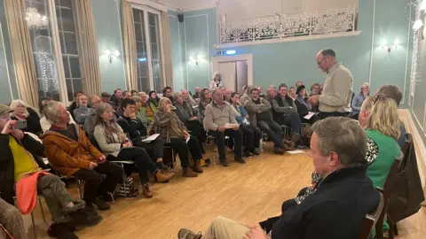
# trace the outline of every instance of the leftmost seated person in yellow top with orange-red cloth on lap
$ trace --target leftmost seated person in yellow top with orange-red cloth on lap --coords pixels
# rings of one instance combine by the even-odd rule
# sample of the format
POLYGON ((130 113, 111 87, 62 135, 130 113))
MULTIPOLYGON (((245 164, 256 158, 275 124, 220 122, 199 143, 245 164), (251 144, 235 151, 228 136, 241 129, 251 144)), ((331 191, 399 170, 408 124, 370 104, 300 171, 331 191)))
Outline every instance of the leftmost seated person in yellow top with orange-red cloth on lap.
POLYGON ((3 198, 0 199, 0 222, 15 238, 27 238, 22 220, 11 208, 13 197, 16 196, 20 212, 28 214, 36 206, 37 194, 41 194, 53 220, 49 228, 51 236, 75 238, 72 227, 98 224, 102 220, 98 213, 85 208, 83 201, 71 197, 59 177, 48 173, 48 167, 40 158, 44 156, 43 144, 14 129, 16 120, 11 120, 10 112, 8 106, 0 104, 0 193, 3 198), (8 221, 4 221, 4 217, 8 221))

